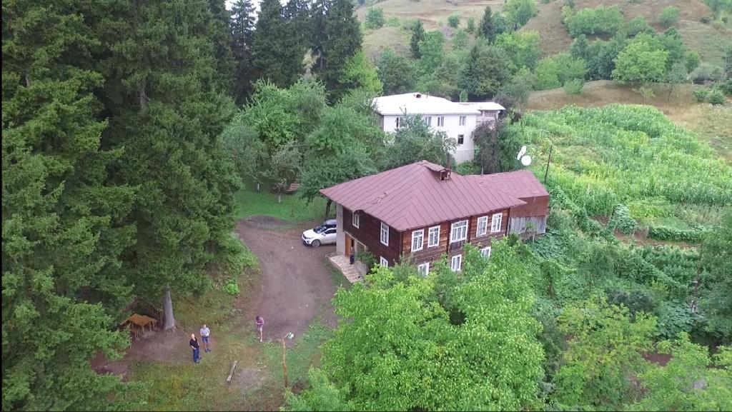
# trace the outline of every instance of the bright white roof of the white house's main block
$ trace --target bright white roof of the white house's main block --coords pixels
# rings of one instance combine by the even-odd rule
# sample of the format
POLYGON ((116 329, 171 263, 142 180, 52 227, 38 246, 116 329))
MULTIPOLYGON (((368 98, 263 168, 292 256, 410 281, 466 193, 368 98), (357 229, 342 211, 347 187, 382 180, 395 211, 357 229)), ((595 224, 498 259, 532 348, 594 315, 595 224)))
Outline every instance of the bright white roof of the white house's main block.
POLYGON ((393 94, 373 100, 376 111, 384 115, 407 114, 480 114, 479 109, 422 93, 393 94))

